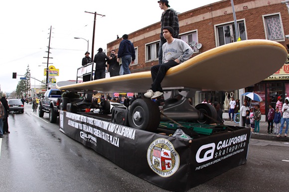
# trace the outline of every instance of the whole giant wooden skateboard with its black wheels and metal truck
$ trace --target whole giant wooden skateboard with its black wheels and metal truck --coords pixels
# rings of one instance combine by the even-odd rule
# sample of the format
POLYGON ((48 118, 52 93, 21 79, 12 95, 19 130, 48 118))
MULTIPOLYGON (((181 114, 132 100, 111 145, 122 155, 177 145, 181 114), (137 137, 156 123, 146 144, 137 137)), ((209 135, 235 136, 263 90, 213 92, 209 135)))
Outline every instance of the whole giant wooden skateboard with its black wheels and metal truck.
MULTIPOLYGON (((115 112, 113 118, 117 117, 115 121, 128 119, 128 124, 117 123, 149 131, 158 128, 160 121, 218 123, 215 121, 217 112, 212 105, 193 107, 189 105, 188 98, 192 98, 196 90, 235 90, 258 83, 279 70, 285 64, 287 55, 284 46, 268 40, 247 40, 214 48, 167 71, 161 83, 165 90, 165 105, 161 113, 154 102, 138 99, 128 112, 115 112)), ((146 71, 60 86, 59 89, 74 92, 145 92, 151 82, 150 71, 146 71)))

